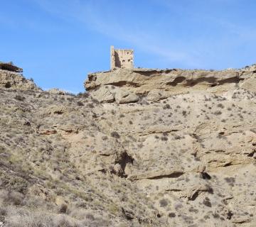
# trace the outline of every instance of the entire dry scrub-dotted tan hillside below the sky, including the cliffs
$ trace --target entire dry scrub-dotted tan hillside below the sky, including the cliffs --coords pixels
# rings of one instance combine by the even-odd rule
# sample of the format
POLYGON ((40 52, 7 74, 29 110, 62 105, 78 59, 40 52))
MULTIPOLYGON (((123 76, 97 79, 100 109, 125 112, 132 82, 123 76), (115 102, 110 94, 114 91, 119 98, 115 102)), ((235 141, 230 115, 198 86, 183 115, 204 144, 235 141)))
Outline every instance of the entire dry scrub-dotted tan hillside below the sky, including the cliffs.
POLYGON ((256 226, 256 68, 0 70, 0 226, 256 226))

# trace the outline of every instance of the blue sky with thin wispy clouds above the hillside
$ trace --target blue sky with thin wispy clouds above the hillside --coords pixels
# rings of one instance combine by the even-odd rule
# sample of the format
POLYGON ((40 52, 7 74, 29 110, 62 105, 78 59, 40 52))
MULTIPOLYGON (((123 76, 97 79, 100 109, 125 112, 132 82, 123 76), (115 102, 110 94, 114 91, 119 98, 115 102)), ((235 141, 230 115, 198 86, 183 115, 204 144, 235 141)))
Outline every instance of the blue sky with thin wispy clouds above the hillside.
POLYGON ((0 6, 0 61, 43 89, 84 92, 110 69, 110 45, 135 67, 225 69, 256 62, 255 0, 8 0, 0 6))

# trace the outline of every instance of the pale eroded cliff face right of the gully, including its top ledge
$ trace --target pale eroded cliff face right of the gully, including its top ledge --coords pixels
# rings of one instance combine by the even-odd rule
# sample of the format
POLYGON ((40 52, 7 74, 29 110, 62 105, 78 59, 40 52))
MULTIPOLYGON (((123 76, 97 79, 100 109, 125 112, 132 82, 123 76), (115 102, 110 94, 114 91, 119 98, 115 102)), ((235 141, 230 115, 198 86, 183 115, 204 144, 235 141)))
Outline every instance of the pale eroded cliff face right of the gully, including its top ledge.
POLYGON ((124 175, 170 225, 255 225, 255 66, 114 70, 85 87, 105 103, 101 130, 133 160, 124 175))

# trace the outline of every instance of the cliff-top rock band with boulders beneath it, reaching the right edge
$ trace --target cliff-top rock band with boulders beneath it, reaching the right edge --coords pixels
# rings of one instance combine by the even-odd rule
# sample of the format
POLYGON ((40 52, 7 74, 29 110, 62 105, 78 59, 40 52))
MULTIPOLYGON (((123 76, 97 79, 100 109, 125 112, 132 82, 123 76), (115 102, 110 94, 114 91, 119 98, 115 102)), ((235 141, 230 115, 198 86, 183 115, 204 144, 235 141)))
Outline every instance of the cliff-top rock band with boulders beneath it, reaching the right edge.
POLYGON ((234 89, 235 84, 255 92, 255 67, 242 70, 206 71, 206 70, 112 70, 88 75, 85 89, 103 102, 119 102, 120 92, 144 96, 149 101, 165 99, 174 94, 186 94, 194 90, 223 92, 234 89), (251 79, 251 80, 247 80, 251 79), (250 88, 248 87, 253 79, 250 88), (243 82, 246 84, 242 85, 243 82), (116 97, 117 95, 117 97, 116 97))

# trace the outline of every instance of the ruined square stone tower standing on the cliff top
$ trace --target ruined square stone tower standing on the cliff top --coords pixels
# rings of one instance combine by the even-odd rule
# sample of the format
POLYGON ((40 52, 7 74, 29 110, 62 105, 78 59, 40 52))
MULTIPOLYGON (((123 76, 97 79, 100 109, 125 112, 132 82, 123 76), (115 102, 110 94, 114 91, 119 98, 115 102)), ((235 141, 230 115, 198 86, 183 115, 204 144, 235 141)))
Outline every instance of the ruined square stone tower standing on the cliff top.
POLYGON ((114 49, 110 47, 110 68, 125 68, 132 69, 134 61, 133 50, 114 49))

